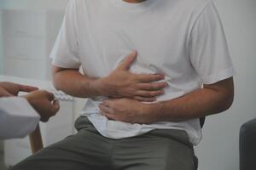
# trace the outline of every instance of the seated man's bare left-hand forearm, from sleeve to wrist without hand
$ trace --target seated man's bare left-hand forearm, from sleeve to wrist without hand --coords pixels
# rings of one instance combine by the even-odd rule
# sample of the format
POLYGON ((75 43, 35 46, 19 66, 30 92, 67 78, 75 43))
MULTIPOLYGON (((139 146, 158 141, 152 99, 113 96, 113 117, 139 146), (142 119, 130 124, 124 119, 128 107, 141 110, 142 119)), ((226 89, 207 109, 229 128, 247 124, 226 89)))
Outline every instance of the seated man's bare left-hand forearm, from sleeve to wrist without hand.
POLYGON ((55 88, 79 98, 102 96, 98 78, 87 77, 77 70, 58 71, 54 77, 55 88))

